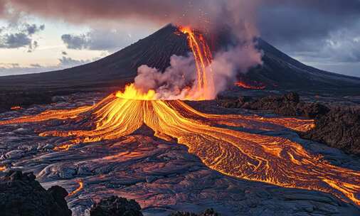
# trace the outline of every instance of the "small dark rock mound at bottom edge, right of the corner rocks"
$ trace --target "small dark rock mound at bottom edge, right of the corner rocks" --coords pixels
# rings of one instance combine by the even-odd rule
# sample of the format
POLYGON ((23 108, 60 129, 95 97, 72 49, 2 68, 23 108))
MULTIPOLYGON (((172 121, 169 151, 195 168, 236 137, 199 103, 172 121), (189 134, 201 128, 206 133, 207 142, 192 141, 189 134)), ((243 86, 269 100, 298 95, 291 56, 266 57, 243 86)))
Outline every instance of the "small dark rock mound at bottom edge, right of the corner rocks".
POLYGON ((142 216, 141 207, 135 200, 112 196, 95 203, 90 216, 142 216))

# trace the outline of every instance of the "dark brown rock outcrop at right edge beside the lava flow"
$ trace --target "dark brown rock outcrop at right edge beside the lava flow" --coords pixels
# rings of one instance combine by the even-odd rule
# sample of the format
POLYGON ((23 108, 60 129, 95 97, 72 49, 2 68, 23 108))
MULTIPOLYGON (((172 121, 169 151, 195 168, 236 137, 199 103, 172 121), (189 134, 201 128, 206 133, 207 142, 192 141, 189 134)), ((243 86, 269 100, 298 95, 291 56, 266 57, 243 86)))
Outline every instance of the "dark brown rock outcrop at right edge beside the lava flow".
POLYGON ((302 138, 322 142, 360 155, 360 110, 332 109, 315 120, 315 128, 302 138))

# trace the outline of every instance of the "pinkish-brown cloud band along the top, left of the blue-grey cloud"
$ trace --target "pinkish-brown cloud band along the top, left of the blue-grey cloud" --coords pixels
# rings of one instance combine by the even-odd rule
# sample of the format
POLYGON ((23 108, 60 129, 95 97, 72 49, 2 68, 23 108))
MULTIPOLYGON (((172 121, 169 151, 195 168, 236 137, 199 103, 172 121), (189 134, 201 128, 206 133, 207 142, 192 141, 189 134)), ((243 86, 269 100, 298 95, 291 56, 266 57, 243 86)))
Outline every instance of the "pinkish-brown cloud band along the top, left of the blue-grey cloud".
MULTIPOLYGON (((40 16, 62 18, 73 23, 92 21, 152 21, 164 25, 175 23, 191 25, 196 28, 216 29, 218 26, 231 25, 236 33, 245 25, 244 18, 253 19, 255 6, 261 0, 11 0, 9 4, 19 11, 40 16)), ((245 35, 246 36, 246 35, 245 35)))

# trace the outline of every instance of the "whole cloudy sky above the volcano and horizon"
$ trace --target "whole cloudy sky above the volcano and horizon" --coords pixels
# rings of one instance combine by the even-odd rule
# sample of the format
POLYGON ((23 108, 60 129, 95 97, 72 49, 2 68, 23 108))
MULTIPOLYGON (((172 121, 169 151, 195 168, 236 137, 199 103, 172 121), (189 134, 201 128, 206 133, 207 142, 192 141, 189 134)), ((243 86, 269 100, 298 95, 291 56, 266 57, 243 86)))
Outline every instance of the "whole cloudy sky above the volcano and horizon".
POLYGON ((259 36, 293 58, 360 77, 359 0, 248 2, 0 0, 0 75, 88 63, 169 22, 216 28, 219 20, 229 19, 224 18, 226 8, 237 14, 232 20, 248 19, 259 36))

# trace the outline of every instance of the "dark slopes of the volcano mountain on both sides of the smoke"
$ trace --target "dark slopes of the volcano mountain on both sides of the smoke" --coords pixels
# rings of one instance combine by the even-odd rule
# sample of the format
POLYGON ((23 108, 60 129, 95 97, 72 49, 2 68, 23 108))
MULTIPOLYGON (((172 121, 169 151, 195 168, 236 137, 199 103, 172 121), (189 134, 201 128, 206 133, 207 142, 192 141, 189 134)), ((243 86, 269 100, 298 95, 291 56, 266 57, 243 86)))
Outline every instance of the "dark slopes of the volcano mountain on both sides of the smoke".
MULTIPOLYGON (((171 55, 187 55, 191 50, 185 34, 168 25, 151 36, 93 63, 75 68, 31 75, 0 77, 0 90, 60 90, 63 87, 108 87, 132 82, 137 68, 148 65, 164 70, 171 55)), ((213 47, 228 44, 219 37, 213 47)), ((268 88, 359 92, 360 78, 318 70, 290 58, 269 43, 258 38, 263 50, 263 65, 248 72, 245 80, 263 83, 268 88)))

